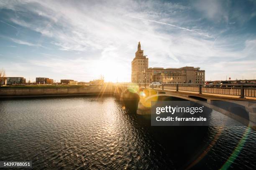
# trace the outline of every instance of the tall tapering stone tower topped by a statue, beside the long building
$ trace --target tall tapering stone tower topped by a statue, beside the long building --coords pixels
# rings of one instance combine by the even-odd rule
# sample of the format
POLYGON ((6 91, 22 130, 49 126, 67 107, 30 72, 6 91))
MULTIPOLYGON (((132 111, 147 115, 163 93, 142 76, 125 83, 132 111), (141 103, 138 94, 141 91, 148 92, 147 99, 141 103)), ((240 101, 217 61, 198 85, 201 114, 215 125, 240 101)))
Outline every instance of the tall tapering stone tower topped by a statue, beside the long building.
MULTIPOLYGON (((144 71, 148 70, 148 58, 144 56, 143 50, 141 50, 141 42, 138 42, 138 50, 135 53, 135 58, 132 61, 132 75, 131 82, 133 83, 144 83, 144 71)), ((150 77, 149 77, 150 79, 150 77)), ((148 81, 148 77, 146 76, 146 83, 148 81)))

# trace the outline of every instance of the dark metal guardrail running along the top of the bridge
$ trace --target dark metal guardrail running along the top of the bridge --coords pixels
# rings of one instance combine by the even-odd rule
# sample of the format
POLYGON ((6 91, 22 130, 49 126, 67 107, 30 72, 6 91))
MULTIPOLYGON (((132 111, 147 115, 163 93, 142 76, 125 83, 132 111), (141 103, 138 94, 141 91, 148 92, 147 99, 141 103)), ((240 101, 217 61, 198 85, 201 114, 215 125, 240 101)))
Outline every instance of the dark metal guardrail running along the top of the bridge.
POLYGON ((198 93, 211 93, 220 95, 235 95, 244 97, 256 97, 256 84, 174 84, 174 83, 116 83, 115 85, 127 87, 156 88, 159 90, 175 90, 198 93))

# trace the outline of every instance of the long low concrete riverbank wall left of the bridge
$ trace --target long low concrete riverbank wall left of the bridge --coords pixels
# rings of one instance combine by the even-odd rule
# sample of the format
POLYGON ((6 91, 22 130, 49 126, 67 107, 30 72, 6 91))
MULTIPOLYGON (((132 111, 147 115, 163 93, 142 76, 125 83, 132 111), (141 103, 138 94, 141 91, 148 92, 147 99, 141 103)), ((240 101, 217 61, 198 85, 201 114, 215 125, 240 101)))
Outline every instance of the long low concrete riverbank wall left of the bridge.
POLYGON ((40 97, 73 95, 110 95, 114 93, 113 85, 91 85, 87 87, 51 87, 51 88, 0 88, 0 97, 40 97))

